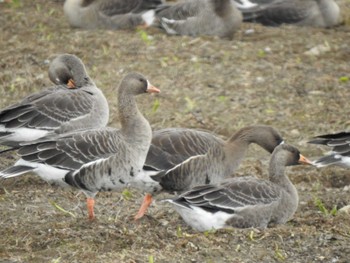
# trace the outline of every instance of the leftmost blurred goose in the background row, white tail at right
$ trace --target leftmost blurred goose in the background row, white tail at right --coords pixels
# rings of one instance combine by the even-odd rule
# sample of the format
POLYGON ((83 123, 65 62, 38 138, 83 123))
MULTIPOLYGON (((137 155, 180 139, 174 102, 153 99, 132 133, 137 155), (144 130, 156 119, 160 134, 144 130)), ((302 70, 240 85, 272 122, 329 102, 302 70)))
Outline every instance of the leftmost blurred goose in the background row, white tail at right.
POLYGON ((64 14, 73 27, 132 29, 149 26, 161 0, 66 0, 64 14))

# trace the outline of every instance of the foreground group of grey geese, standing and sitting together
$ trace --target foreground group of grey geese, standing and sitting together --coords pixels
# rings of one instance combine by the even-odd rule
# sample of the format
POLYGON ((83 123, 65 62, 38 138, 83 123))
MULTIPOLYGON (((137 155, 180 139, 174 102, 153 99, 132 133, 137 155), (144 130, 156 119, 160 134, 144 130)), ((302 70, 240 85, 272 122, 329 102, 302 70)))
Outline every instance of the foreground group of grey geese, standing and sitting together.
POLYGON ((329 156, 311 162, 284 143, 271 126, 253 125, 222 140, 210 132, 166 128, 152 133, 135 97, 159 93, 143 75, 129 73, 117 90, 121 128, 106 127, 106 98, 71 54, 50 64, 54 83, 0 111, 0 144, 17 151, 18 161, 0 172, 11 178, 33 172, 50 184, 73 187, 87 198, 93 219, 100 191, 133 187, 147 192, 141 218, 160 192, 180 194, 166 199, 198 231, 225 227, 283 224, 298 207, 298 193, 285 175, 297 164, 349 164, 350 133, 316 137, 312 143, 333 147, 329 156), (272 153, 269 179, 234 177, 251 143, 272 153))

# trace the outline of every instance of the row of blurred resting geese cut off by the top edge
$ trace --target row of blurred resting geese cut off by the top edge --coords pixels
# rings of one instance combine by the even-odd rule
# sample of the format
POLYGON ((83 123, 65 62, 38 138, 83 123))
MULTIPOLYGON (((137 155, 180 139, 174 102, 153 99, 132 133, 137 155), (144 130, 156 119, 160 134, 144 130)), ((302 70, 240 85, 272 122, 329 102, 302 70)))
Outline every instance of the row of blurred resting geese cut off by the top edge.
POLYGON ((334 0, 66 0, 73 27, 131 29, 159 27, 168 34, 231 39, 241 23, 333 27, 342 22, 334 0))

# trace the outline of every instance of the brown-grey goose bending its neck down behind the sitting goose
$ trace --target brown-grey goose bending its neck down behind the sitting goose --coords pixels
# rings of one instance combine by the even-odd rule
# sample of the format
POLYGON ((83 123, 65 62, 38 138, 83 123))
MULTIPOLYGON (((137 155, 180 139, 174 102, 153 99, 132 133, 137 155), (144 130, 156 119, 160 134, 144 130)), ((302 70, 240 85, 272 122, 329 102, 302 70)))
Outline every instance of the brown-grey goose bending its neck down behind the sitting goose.
MULTIPOLYGON (((158 181, 163 191, 183 192, 197 185, 219 183, 231 176, 238 169, 250 143, 256 143, 271 153, 282 142, 280 134, 266 125, 242 128, 226 142, 201 131, 161 130, 153 135, 145 163, 148 169, 143 172, 158 181), (175 166, 167 168, 171 164, 175 166)), ((136 219, 143 216, 151 202, 151 195, 146 195, 136 219)))

